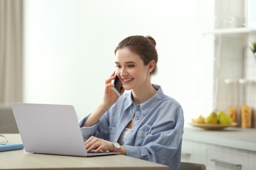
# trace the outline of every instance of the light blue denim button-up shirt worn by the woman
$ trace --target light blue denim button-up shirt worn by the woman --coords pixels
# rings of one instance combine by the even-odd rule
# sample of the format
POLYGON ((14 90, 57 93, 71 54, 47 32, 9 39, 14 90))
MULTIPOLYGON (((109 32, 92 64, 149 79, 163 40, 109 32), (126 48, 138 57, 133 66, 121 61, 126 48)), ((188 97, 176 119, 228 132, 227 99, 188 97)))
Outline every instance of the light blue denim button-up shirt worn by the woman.
POLYGON ((184 117, 181 105, 165 95, 161 87, 145 103, 135 105, 131 92, 123 93, 100 120, 92 127, 81 127, 84 140, 91 136, 110 142, 119 142, 119 137, 135 115, 133 128, 127 134, 123 146, 127 156, 169 165, 178 170, 181 162, 181 145, 184 117))

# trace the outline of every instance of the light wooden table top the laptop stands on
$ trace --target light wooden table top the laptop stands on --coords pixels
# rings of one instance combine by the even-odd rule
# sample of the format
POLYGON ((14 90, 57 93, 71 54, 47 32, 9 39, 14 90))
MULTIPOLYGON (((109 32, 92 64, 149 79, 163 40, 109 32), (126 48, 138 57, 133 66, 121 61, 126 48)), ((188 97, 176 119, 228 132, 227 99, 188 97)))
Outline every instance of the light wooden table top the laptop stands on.
MULTIPOLYGON (((22 143, 19 134, 3 134, 9 143, 22 143)), ((129 156, 56 156, 25 150, 0 152, 0 169, 169 169, 168 166, 129 156)))

